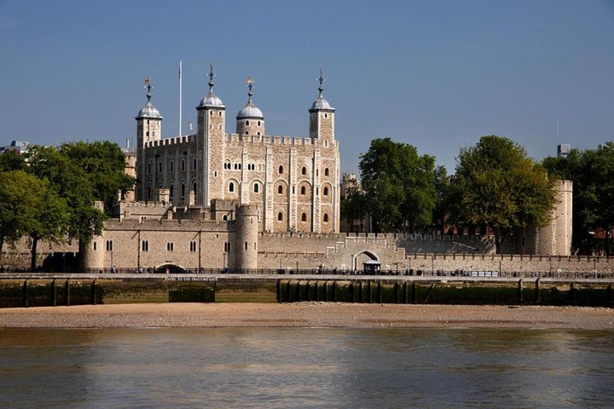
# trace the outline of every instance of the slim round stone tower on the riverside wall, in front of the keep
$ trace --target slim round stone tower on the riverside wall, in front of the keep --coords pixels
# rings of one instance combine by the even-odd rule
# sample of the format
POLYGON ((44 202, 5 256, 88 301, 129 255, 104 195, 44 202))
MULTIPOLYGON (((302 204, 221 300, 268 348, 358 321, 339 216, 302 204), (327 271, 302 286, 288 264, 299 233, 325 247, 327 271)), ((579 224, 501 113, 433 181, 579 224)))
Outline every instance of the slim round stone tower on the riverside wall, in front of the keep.
POLYGON ((258 208, 237 205, 235 213, 235 269, 258 268, 258 208))

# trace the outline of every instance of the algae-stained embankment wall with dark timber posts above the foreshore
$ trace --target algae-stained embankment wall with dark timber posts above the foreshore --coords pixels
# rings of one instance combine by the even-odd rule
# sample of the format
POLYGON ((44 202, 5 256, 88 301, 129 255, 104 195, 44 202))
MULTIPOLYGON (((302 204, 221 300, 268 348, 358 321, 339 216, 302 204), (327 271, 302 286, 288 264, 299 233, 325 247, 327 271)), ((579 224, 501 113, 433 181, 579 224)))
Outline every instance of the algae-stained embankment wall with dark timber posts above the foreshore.
POLYGON ((327 275, 3 275, 0 307, 300 301, 614 307, 610 281, 327 275))

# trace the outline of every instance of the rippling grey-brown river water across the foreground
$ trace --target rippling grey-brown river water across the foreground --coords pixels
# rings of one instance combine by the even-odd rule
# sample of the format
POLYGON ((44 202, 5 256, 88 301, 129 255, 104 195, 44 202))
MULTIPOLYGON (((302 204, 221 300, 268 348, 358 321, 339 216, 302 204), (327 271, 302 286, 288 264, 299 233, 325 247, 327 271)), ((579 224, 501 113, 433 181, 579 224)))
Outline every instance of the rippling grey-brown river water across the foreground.
POLYGON ((614 407, 614 332, 0 329, 0 407, 614 407))

